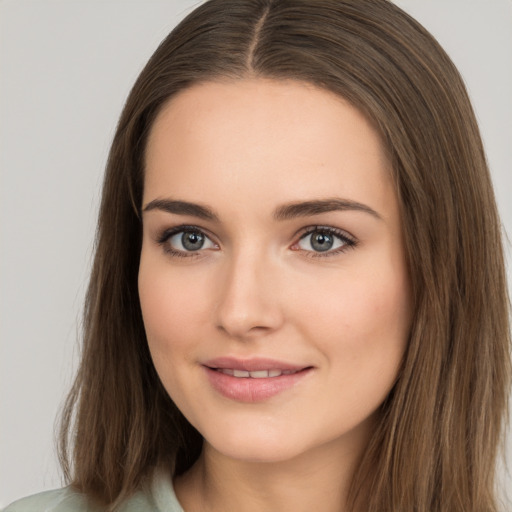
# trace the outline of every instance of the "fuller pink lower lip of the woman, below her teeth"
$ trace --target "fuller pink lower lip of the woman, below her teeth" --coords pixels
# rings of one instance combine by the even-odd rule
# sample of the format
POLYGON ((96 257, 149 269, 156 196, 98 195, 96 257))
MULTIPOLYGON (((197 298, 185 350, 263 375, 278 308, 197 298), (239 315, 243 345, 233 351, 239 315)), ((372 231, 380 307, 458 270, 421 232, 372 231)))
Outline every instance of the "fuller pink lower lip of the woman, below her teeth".
POLYGON ((294 387, 312 368, 305 368, 297 373, 253 379, 250 377, 233 377, 205 366, 208 379, 213 388, 221 395, 238 402, 263 402, 287 389, 294 387))

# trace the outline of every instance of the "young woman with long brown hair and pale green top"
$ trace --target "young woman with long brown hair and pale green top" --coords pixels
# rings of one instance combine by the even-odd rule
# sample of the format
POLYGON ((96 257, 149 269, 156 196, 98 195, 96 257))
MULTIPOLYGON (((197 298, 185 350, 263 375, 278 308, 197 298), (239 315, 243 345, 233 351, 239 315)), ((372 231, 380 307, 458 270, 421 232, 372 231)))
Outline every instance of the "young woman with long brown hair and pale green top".
POLYGON ((498 510, 500 225, 462 80, 386 0, 210 0, 110 152, 70 486, 7 510, 498 510))

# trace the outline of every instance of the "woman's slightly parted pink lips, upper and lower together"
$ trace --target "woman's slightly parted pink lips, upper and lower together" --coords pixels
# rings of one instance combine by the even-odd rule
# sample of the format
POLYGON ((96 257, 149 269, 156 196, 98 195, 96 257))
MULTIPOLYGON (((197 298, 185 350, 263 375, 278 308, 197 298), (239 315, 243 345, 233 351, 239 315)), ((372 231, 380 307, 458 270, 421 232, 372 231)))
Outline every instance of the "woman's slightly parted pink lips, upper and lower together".
POLYGON ((283 393, 301 382, 313 371, 312 366, 296 365, 275 359, 236 359, 221 357, 203 364, 210 385, 225 398, 237 402, 263 402, 283 393), (216 369, 234 369, 245 371, 258 370, 289 370, 296 373, 280 375, 279 377, 234 377, 221 373, 216 369))

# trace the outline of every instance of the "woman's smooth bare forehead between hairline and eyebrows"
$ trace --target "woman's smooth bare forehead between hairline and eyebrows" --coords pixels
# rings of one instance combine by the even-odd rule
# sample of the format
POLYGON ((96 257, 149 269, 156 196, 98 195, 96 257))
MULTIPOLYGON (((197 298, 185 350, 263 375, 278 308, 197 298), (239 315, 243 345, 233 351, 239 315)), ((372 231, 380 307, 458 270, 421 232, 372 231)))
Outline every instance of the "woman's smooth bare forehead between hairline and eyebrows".
MULTIPOLYGON (((146 148, 144 202, 167 195, 260 208, 394 195, 381 139, 339 96, 298 81, 207 82, 172 98, 146 148)), ((236 209, 236 208, 235 208, 236 209)))

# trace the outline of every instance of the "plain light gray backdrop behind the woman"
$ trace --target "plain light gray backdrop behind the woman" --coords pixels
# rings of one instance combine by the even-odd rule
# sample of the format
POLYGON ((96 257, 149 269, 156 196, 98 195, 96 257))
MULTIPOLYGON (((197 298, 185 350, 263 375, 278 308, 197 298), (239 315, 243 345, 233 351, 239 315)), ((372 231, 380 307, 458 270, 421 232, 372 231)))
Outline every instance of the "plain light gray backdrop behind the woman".
MULTIPOLYGON (((198 3, 0 0, 0 507, 61 485, 54 419, 76 367, 107 151, 137 74, 198 3)), ((462 72, 511 233, 512 1, 396 3, 462 72)))

